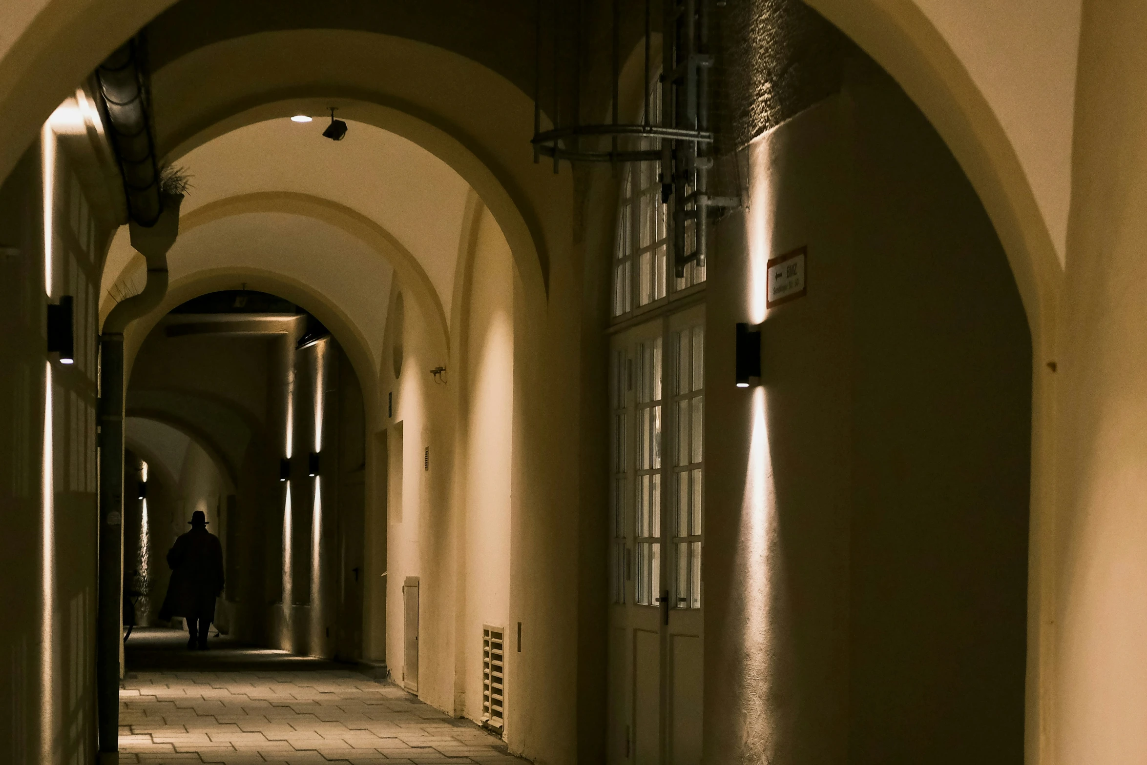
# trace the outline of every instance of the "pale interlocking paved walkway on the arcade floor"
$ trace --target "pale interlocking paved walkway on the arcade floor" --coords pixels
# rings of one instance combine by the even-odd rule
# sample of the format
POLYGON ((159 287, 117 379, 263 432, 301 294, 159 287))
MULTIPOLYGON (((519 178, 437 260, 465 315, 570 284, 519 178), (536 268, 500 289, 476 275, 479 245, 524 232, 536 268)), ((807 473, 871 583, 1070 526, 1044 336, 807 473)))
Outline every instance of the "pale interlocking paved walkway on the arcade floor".
POLYGON ((194 669, 175 669, 180 636, 142 630, 128 641, 145 660, 133 669, 128 652, 120 763, 525 762, 473 723, 329 662, 224 646, 185 654, 194 669))

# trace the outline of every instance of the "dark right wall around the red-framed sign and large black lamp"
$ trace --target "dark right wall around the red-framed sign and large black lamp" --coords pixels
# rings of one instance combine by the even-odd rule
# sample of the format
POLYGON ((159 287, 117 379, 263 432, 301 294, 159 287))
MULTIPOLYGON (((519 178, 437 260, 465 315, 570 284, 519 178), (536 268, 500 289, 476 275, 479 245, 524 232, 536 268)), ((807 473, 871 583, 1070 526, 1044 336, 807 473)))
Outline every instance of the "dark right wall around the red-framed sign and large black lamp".
POLYGON ((863 57, 747 151, 707 299, 704 756, 1019 762, 1031 339, 999 240, 863 57), (801 246, 806 297, 767 309, 801 246))

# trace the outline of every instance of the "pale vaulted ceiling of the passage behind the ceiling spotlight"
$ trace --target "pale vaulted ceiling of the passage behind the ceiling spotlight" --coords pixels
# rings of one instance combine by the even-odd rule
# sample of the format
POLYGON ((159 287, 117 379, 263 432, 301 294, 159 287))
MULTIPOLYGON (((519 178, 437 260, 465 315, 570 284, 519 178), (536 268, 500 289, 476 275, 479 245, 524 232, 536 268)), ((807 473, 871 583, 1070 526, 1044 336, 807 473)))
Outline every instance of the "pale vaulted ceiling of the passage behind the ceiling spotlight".
MULTIPOLYGON (((167 257, 171 279, 229 268, 280 274, 309 285, 345 313, 367 339, 377 366, 395 277, 377 243, 313 215, 275 212, 274 204, 256 205, 258 212, 218 210, 231 200, 295 195, 291 199, 333 203, 365 219, 397 244, 390 250, 404 253, 407 269, 421 271, 418 276, 437 299, 436 313, 448 325, 470 187, 427 150, 372 125, 348 120, 345 139, 325 139, 328 121, 318 113, 312 123, 258 121, 175 161, 192 188, 180 211, 184 230, 167 257)), ((101 314, 142 289, 145 278, 143 260, 131 249, 124 227, 104 268, 101 314)), ((235 286, 240 282, 236 276, 235 286)))

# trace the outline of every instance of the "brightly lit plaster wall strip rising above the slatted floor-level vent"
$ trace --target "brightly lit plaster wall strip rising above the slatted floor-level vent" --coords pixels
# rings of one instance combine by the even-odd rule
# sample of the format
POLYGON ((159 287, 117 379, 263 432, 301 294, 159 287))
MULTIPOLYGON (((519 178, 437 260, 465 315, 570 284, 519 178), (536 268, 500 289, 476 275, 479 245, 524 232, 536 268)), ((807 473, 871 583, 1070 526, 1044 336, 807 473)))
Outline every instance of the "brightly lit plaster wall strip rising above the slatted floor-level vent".
MULTIPOLYGON (((514 404, 513 260, 509 245, 485 210, 474 253, 466 332, 465 713, 482 719, 483 624, 509 624, 509 511, 514 404)), ((507 703, 509 700, 507 700, 507 703)))

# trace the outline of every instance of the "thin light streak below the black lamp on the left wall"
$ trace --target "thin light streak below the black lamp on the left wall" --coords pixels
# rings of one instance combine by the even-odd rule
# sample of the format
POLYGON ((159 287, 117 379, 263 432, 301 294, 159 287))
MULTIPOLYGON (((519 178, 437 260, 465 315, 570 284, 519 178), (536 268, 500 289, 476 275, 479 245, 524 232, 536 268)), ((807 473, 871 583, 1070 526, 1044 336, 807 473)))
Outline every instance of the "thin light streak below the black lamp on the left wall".
POLYGON ((52 363, 44 372, 44 455, 41 463, 42 502, 40 526, 40 587, 44 614, 40 617, 40 762, 54 759, 55 741, 55 455, 53 451, 52 363))

